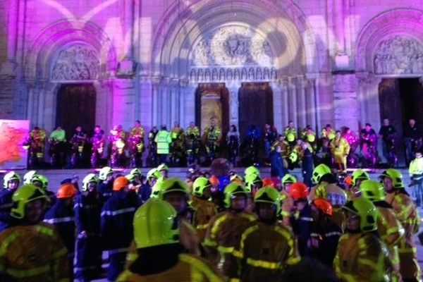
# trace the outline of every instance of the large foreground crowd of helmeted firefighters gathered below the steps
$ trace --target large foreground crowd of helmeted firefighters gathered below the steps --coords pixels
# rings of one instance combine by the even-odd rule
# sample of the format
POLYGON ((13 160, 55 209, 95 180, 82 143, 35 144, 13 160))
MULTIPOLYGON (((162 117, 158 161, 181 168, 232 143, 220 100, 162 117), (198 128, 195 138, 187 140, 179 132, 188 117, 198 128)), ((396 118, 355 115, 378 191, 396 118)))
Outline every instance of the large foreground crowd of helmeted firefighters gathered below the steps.
POLYGON ((400 171, 312 186, 286 174, 168 178, 161 164, 109 166, 58 192, 37 171, 10 171, 0 194, 1 281, 422 281, 419 214, 400 171))

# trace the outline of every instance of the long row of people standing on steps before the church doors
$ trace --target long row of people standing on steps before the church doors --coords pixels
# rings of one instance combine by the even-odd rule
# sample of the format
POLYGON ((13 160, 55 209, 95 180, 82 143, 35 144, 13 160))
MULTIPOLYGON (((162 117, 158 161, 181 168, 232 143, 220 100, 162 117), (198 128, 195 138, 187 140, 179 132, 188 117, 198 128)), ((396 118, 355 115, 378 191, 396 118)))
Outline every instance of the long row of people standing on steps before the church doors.
MULTIPOLYGON (((46 137, 44 130, 35 127, 24 144, 29 150, 29 166, 32 168, 44 164, 46 137)), ((414 119, 410 119, 406 125, 404 137, 408 164, 415 152, 422 149, 422 134, 414 119)), ((193 122, 186 130, 179 123, 175 123, 171 130, 167 130, 166 125, 160 129, 154 126, 148 133, 147 145, 140 121, 135 122, 129 133, 117 125, 109 135, 97 125, 90 137, 78 126, 70 142, 66 141, 65 130, 59 126, 48 138, 48 152, 51 166, 60 167, 82 167, 88 163, 92 167, 109 164, 112 168, 135 168, 144 164, 152 167, 161 163, 183 167, 209 164, 216 157, 226 157, 234 166, 262 166, 271 163, 272 152, 280 146, 285 168, 299 166, 302 161, 307 163, 311 158, 314 165, 324 163, 345 171, 347 166, 375 167, 381 159, 377 151, 378 139, 381 139, 386 164, 398 166, 398 135, 388 119, 384 119, 379 134, 366 123, 359 135, 346 127, 335 130, 330 124, 319 135, 308 125, 297 130, 292 121, 282 133, 278 133, 270 124, 263 128, 252 125, 245 133, 243 142, 240 142, 240 133, 235 125, 231 125, 228 133, 223 135, 222 129, 212 118, 202 133, 193 122), (144 162, 143 154, 146 151, 144 162), (86 159, 90 161, 84 164, 86 159)))

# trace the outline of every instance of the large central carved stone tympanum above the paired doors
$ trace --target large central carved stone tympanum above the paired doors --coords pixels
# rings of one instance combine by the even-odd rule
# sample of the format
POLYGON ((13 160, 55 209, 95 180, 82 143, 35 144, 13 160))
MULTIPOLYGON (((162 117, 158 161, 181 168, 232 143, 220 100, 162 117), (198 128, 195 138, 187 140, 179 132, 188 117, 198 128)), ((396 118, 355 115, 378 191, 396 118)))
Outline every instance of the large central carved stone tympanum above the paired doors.
POLYGON ((191 53, 190 79, 276 79, 273 66, 274 56, 266 39, 250 27, 229 25, 211 32, 197 43, 191 53))

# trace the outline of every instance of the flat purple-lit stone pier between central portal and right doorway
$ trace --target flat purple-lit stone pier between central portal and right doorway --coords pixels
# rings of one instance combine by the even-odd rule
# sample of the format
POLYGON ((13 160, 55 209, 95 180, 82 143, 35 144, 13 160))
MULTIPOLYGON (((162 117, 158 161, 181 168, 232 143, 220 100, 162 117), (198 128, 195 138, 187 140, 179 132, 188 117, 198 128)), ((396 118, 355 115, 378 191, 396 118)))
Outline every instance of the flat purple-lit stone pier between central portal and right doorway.
POLYGON ((357 79, 354 73, 333 74, 333 111, 336 129, 348 126, 357 132, 357 79))

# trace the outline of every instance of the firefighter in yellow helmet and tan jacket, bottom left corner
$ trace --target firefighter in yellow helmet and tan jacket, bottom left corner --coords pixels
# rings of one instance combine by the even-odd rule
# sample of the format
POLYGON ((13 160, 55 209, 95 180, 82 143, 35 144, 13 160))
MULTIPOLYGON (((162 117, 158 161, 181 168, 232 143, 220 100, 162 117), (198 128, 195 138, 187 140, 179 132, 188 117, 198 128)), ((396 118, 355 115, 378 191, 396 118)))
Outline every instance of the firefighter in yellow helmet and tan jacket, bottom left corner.
POLYGON ((32 184, 13 194, 15 222, 0 233, 0 270, 11 281, 71 281, 68 251, 54 226, 42 222, 47 201, 44 191, 32 184))

